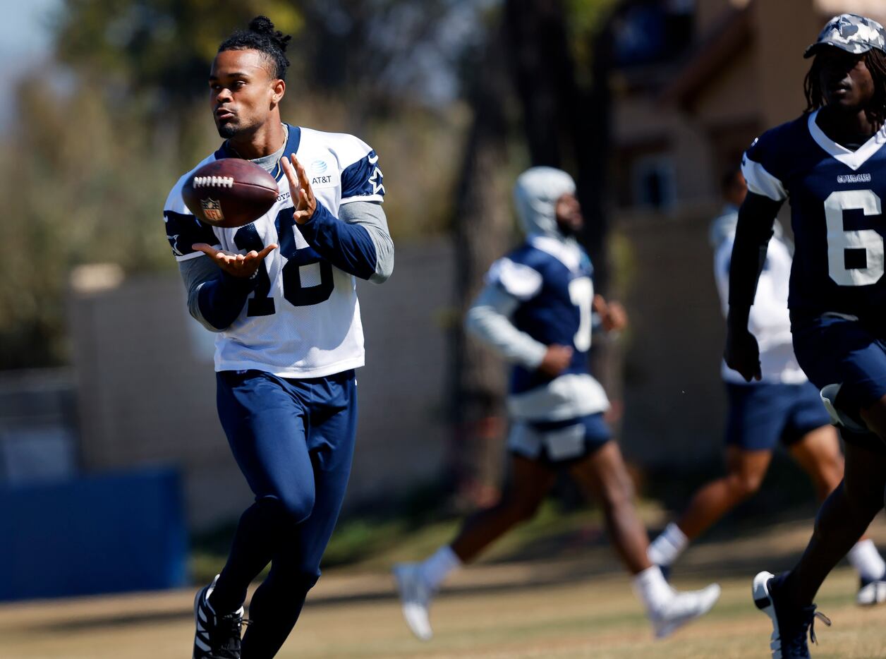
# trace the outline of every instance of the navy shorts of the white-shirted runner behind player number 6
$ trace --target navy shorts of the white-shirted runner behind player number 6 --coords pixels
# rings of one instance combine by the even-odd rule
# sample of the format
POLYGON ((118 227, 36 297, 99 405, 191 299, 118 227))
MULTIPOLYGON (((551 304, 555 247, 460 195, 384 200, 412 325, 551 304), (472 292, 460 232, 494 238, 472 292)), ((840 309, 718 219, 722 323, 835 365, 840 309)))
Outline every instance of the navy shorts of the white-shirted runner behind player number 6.
POLYGON ((772 451, 779 440, 790 446, 831 423, 814 385, 727 383, 726 443, 744 451, 772 451))

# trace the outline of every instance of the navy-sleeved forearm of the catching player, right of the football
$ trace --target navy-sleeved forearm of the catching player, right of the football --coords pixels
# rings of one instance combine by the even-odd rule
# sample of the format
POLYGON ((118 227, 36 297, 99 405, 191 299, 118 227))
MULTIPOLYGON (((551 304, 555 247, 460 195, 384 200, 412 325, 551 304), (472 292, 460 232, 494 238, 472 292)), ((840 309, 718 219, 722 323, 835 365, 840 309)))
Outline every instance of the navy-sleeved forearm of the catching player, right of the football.
POLYGON ((311 219, 296 226, 307 244, 339 270, 361 279, 376 274, 376 246, 365 227, 338 220, 319 201, 311 219))

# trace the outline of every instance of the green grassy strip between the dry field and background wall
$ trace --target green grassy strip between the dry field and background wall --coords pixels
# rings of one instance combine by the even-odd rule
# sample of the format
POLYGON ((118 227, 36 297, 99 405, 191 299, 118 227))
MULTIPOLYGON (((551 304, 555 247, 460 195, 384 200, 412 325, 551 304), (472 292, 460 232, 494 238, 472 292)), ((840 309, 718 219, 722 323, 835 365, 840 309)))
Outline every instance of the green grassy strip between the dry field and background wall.
MULTIPOLYGON (((673 474, 651 475, 643 485, 657 498, 668 492, 664 500, 679 510, 698 485, 721 473, 721 469, 712 465, 703 473, 679 479, 673 474), (668 484, 668 488, 663 484, 668 484)), ((578 493, 563 485, 558 484, 559 498, 546 500, 532 521, 499 539, 483 554, 482 560, 568 556, 589 546, 605 545, 599 508, 593 504, 581 505, 578 493)), ((348 566, 357 571, 388 570, 394 562, 424 558, 451 541, 462 522, 463 516, 455 515, 447 508, 447 502, 446 494, 438 486, 428 485, 410 492, 402 500, 388 502, 384 508, 369 508, 343 516, 323 554, 323 569, 348 566)), ((657 500, 638 500, 637 507, 652 531, 661 528, 672 516, 657 500)), ((816 508, 808 478, 799 473, 787 456, 776 454, 758 495, 716 524, 701 543, 752 533, 771 523, 812 517, 816 508)), ((206 583, 221 570, 235 528, 235 523, 224 524, 193 539, 190 573, 194 583, 206 583)))

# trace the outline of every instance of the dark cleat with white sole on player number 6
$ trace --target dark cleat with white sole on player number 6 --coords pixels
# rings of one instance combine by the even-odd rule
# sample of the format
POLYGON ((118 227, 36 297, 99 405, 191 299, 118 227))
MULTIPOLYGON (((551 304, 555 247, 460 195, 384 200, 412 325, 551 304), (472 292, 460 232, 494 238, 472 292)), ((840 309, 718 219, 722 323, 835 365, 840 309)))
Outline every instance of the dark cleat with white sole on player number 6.
POLYGON ((754 604, 773 621, 773 635, 769 642, 773 659, 807 659, 810 656, 807 634, 813 643, 817 642, 815 618, 828 627, 831 623, 828 616, 816 612, 814 604, 791 609, 779 601, 777 592, 786 574, 774 577, 771 572, 760 572, 754 578, 754 604))

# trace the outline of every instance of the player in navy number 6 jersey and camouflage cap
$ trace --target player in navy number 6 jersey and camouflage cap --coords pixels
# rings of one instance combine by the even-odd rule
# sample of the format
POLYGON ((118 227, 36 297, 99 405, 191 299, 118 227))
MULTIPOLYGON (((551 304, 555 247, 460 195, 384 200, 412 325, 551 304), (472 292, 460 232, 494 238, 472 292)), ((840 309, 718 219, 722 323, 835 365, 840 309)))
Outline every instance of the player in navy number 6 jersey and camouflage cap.
POLYGON ((812 600, 883 508, 886 487, 886 31, 872 19, 831 19, 804 53, 807 109, 745 153, 750 194, 739 212, 730 267, 726 358, 759 378, 747 329, 754 290, 786 198, 796 251, 789 307, 797 361, 843 428, 843 483, 820 508, 800 562, 753 592, 773 620, 773 657, 809 656, 812 600))

